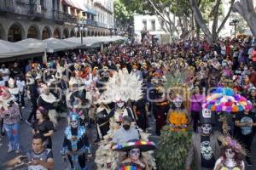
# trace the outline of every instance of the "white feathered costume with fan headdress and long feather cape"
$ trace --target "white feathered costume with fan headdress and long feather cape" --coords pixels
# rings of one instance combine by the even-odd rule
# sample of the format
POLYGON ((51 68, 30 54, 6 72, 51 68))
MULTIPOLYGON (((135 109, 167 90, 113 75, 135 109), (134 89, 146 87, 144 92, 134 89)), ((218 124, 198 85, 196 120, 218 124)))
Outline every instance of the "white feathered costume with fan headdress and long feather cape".
MULTIPOLYGON (((125 103, 129 100, 137 101, 143 97, 142 81, 139 81, 135 74, 129 74, 126 69, 114 72, 113 77, 110 77, 105 84, 105 89, 98 103, 105 105, 115 103, 115 108, 107 116, 110 125, 108 134, 103 136, 96 150, 96 165, 99 170, 111 170, 118 166, 119 153, 111 150, 113 135, 121 127, 120 123, 124 116, 131 116, 135 120, 134 113, 125 103)), ((147 141, 149 134, 139 131, 141 138, 147 141)), ((145 153, 145 158, 150 162, 150 166, 155 168, 153 156, 145 153)))

